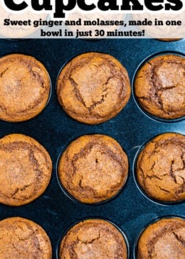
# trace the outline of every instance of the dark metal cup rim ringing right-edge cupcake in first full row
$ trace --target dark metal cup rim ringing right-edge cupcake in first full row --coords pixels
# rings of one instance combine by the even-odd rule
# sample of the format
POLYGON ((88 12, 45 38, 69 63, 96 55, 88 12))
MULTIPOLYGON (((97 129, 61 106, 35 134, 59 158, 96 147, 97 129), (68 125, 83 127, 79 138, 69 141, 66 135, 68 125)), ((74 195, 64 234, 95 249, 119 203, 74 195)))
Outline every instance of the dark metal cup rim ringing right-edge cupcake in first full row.
POLYGON ((135 91, 134 91, 134 83, 135 80, 137 78, 137 74, 139 73, 139 70, 143 67, 143 65, 145 65, 149 60, 152 60, 153 58, 156 58, 157 56, 163 56, 163 55, 176 55, 176 56, 181 56, 183 58, 185 58, 184 53, 180 53, 178 51, 161 51, 158 53, 153 53, 152 55, 148 56, 147 58, 145 58, 142 63, 140 63, 134 73, 133 79, 132 79, 132 96, 134 98, 134 102, 136 103, 138 109, 147 117, 149 117, 152 120, 155 120, 157 122, 180 122, 181 120, 185 119, 185 116, 183 117, 179 117, 176 119, 164 119, 162 117, 157 117, 155 115, 150 114, 149 112, 147 112, 147 110, 144 110, 144 108, 142 107, 142 105, 139 104, 139 101, 137 100, 137 97, 135 96, 135 91))

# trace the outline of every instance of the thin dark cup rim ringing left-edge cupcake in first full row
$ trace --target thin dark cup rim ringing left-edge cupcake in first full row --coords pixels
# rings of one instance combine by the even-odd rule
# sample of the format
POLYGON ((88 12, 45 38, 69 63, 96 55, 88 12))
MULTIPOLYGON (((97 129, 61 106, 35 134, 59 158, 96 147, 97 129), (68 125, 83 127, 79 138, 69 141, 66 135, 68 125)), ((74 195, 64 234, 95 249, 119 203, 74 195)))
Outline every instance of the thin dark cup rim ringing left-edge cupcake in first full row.
MULTIPOLYGON (((21 40, 21 39, 20 39, 20 40, 21 40)), ((13 39, 13 41, 14 41, 14 39, 13 39)), ((21 53, 21 52, 14 52, 14 53, 13 53, 13 52, 11 52, 11 53, 7 53, 7 54, 4 55, 4 56, 0 56, 0 59, 1 59, 1 58, 4 58, 4 57, 6 57, 6 56, 12 55, 12 54, 31 56, 31 55, 29 55, 28 53, 21 53)), ((31 56, 31 57, 32 57, 32 58, 35 58, 34 56, 31 56)), ((38 60, 38 59, 36 58, 36 60, 38 60)), ((41 60, 38 60, 38 62, 40 62, 40 63, 44 66, 44 68, 46 68, 46 65, 45 65, 41 60)), ((46 109, 46 107, 48 106, 48 104, 49 104, 49 102, 50 102, 50 100, 51 100, 51 95, 52 95, 51 76, 50 76, 50 74, 48 73, 48 69, 47 69, 47 68, 46 68, 46 71, 47 71, 48 78, 49 78, 49 82, 50 82, 50 90, 49 90, 48 100, 47 100, 47 102, 46 102, 46 105, 45 105, 45 107, 43 107, 43 110, 41 110, 41 112, 39 112, 35 117, 31 117, 30 119, 28 119, 28 120, 23 120, 23 121, 21 121, 21 122, 28 122, 28 121, 31 121, 31 120, 35 119, 36 117, 38 117, 39 115, 41 115, 41 113, 46 109)), ((2 119, 0 119, 0 120, 2 120, 2 119)), ((13 124, 15 124, 15 125, 21 123, 21 122, 9 122, 9 121, 6 121, 6 120, 2 120, 2 121, 7 122, 7 123, 13 123, 13 124)))

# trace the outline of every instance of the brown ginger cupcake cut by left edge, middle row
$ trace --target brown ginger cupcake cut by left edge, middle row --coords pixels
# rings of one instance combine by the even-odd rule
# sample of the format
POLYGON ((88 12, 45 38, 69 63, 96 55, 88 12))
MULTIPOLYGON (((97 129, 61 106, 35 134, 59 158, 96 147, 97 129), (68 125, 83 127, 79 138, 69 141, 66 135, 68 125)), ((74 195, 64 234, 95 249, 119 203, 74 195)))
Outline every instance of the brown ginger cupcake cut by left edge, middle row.
POLYGON ((52 162, 46 149, 23 134, 0 139, 0 202, 20 206, 38 198, 51 179, 52 162))

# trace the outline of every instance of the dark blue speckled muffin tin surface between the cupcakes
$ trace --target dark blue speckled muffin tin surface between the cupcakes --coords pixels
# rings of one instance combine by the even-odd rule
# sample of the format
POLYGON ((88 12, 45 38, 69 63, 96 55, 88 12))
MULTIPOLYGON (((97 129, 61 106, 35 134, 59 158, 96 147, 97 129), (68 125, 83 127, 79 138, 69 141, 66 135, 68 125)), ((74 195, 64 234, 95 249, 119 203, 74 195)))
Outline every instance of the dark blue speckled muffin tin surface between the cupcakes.
POLYGON ((154 203, 137 188, 132 174, 134 156, 139 147, 157 134, 179 132, 185 134, 185 120, 164 122, 152 120, 137 107, 132 96, 125 108, 114 118, 100 125, 85 125, 70 118, 60 107, 56 96, 56 80, 60 68, 80 53, 96 51, 107 53, 120 61, 134 78, 140 63, 159 52, 183 54, 185 42, 158 41, 157 39, 24 39, 11 41, 0 39, 0 56, 23 53, 40 60, 51 77, 51 97, 40 115, 27 122, 0 121, 1 134, 21 133, 40 142, 51 155, 53 174, 42 196, 24 206, 11 207, 0 204, 0 219, 21 216, 41 225, 51 238, 53 258, 56 258, 58 242, 68 228, 84 218, 104 218, 124 231, 129 242, 129 258, 133 258, 134 242, 147 223, 162 216, 185 216, 185 203, 173 206, 154 203), (120 143, 129 159, 127 184, 115 199, 106 203, 88 205, 73 201, 60 189, 56 171, 58 157, 65 147, 84 134, 107 134, 120 143))

